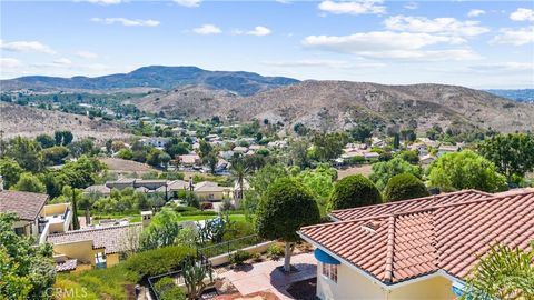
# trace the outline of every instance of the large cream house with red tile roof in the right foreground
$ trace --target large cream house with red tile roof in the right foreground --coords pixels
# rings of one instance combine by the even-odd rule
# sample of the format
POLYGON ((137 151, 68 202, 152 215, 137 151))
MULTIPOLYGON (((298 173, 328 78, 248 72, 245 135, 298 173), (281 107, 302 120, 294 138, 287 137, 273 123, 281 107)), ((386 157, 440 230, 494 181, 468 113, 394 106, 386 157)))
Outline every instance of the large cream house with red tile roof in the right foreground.
POLYGON ((456 299, 490 246, 526 250, 534 191, 475 190, 333 211, 298 234, 318 260, 319 299, 456 299))

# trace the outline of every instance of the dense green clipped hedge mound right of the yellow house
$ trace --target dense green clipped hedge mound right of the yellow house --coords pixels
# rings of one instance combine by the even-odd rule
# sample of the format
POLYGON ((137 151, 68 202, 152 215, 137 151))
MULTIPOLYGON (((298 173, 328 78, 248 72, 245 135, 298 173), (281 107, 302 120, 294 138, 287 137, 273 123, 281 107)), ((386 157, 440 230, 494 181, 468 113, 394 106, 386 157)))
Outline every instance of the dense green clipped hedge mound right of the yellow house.
POLYGON ((188 257, 195 257, 194 249, 184 246, 170 246, 139 252, 125 261, 125 268, 140 278, 176 271, 188 257))

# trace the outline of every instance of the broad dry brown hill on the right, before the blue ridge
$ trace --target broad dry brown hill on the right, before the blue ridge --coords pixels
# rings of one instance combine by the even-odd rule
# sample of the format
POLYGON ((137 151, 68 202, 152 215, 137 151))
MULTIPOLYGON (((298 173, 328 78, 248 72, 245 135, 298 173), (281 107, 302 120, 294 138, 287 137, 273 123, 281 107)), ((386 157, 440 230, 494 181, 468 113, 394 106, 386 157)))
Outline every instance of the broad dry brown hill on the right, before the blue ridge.
POLYGON ((304 81, 250 97, 201 87, 151 94, 135 103, 141 110, 237 120, 269 120, 291 129, 344 130, 367 120, 378 128, 415 120, 421 132, 442 128, 493 128, 504 132, 534 128, 534 104, 444 84, 384 86, 349 81, 304 81))

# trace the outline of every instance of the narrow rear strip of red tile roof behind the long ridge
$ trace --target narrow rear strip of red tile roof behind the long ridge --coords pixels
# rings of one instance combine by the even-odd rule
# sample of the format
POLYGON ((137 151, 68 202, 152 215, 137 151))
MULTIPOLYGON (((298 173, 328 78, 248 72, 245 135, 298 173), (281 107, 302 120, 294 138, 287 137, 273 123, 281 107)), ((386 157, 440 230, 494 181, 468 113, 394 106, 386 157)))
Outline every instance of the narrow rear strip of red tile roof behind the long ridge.
POLYGON ((402 211, 409 211, 414 209, 429 208, 437 204, 459 203, 487 197, 493 197, 493 194, 477 190, 463 190, 457 192, 441 193, 425 198, 389 202, 377 206, 334 210, 330 213, 330 217, 339 221, 369 218, 374 216, 384 216, 388 213, 398 213, 402 211))

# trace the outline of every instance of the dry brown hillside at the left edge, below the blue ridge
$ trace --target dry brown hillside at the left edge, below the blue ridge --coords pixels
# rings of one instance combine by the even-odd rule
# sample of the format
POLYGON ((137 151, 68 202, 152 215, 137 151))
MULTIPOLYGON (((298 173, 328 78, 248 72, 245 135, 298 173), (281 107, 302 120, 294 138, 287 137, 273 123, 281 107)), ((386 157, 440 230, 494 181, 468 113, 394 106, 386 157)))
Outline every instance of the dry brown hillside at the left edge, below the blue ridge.
POLYGON ((0 102, 0 129, 6 138, 34 138, 41 133, 53 134, 56 130, 70 130, 75 138, 91 137, 98 141, 126 141, 131 137, 126 128, 111 121, 6 102, 0 102))

